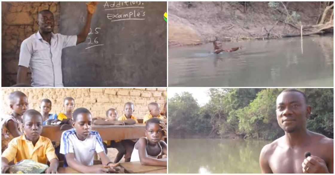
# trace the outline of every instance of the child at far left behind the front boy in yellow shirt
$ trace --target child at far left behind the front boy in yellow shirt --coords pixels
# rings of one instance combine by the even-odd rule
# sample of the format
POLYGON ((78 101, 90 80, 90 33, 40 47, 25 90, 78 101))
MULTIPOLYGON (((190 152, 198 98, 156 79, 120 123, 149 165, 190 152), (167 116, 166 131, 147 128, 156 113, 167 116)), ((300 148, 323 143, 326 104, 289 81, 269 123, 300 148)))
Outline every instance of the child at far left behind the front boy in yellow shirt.
POLYGON ((13 138, 22 135, 21 116, 28 109, 28 99, 24 93, 20 91, 11 92, 8 99, 12 113, 1 119, 1 153, 13 138))

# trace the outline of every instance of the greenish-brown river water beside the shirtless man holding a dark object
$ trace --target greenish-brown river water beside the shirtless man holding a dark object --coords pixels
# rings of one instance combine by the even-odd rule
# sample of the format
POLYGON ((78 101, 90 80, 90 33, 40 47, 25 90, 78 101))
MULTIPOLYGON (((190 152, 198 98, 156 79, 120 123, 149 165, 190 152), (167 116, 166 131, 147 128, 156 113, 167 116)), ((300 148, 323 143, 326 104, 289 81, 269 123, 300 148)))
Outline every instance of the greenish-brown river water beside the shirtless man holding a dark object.
POLYGON ((170 139, 169 173, 261 173, 259 154, 271 141, 170 139))

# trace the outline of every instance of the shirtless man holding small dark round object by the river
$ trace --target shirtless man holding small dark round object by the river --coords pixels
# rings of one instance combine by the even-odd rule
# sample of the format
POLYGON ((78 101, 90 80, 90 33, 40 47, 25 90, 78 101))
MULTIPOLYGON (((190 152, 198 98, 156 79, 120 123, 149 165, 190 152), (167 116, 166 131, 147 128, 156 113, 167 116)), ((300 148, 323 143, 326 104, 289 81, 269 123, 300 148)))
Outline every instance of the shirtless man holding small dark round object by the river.
POLYGON ((303 92, 285 89, 278 95, 277 121, 285 135, 263 147, 262 173, 333 173, 334 140, 307 130, 310 114, 303 92), (311 156, 305 158, 307 151, 311 156))

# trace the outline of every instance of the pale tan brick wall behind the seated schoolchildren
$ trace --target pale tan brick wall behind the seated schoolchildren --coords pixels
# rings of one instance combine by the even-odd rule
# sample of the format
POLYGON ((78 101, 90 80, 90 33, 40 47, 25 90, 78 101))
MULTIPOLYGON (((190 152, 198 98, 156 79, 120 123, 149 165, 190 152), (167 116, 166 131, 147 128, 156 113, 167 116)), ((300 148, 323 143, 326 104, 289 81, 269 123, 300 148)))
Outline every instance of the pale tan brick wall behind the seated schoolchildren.
POLYGON ((151 102, 160 104, 163 111, 166 102, 166 88, 2 88, 2 112, 9 114, 11 109, 8 94, 19 90, 28 97, 29 109, 40 111, 40 102, 49 98, 52 102, 51 113, 63 111, 63 99, 71 96, 75 99, 75 108, 85 107, 93 116, 106 117, 106 110, 116 108, 119 116, 123 114, 124 104, 135 103, 134 115, 143 118, 148 113, 151 102))

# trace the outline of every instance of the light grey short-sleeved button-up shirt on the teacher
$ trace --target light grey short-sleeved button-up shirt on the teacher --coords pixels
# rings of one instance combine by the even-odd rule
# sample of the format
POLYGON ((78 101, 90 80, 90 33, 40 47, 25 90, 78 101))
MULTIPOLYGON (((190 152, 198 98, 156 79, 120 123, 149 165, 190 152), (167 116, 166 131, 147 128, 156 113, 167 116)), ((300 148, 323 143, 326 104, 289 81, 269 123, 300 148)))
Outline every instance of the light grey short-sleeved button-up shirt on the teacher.
POLYGON ((63 87, 62 49, 75 46, 77 36, 51 33, 50 44, 40 32, 32 34, 21 43, 19 66, 31 70, 31 86, 63 87))

